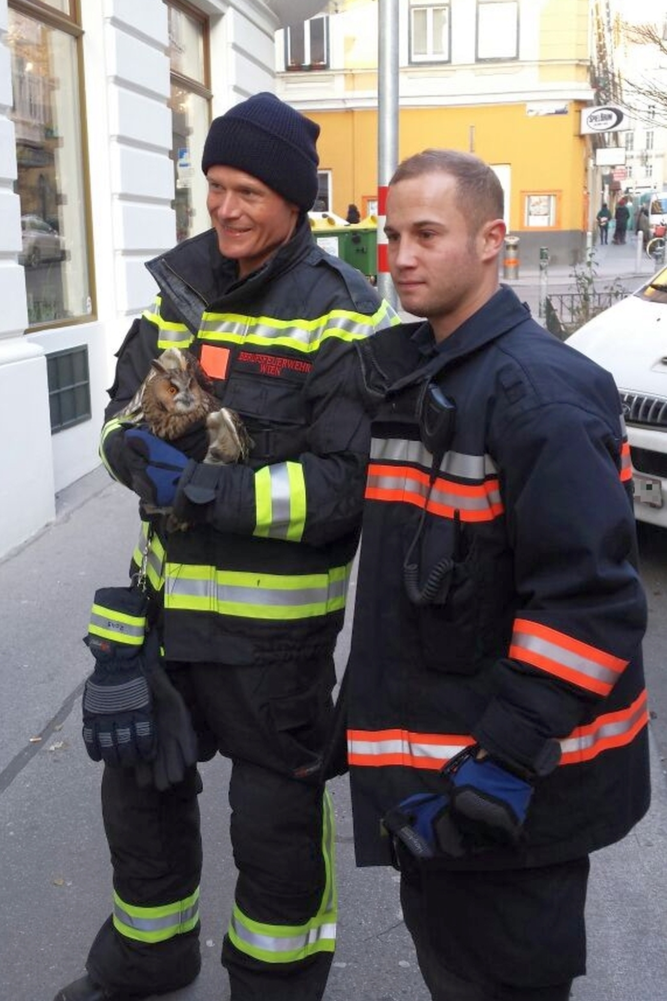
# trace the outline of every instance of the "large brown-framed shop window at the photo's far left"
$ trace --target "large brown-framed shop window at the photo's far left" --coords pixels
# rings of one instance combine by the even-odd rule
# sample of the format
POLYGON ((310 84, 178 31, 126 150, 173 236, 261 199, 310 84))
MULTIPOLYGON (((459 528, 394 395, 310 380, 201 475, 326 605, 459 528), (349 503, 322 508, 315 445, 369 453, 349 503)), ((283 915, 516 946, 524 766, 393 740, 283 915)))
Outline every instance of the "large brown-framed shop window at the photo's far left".
POLYGON ((41 7, 43 13, 41 8, 37 13, 34 5, 10 3, 7 27, 9 116, 21 205, 19 260, 25 267, 31 328, 92 312, 78 72, 81 28, 67 0, 41 7))

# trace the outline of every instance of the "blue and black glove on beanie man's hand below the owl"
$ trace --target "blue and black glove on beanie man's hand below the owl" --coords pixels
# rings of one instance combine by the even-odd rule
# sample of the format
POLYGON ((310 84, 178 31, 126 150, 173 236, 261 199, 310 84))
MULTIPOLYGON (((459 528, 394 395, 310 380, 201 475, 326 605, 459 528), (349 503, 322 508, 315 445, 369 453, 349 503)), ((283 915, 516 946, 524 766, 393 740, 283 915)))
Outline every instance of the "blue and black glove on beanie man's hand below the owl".
POLYGON ((124 436, 123 461, 128 471, 128 485, 147 510, 170 508, 183 470, 193 460, 168 441, 140 427, 129 428, 124 436))

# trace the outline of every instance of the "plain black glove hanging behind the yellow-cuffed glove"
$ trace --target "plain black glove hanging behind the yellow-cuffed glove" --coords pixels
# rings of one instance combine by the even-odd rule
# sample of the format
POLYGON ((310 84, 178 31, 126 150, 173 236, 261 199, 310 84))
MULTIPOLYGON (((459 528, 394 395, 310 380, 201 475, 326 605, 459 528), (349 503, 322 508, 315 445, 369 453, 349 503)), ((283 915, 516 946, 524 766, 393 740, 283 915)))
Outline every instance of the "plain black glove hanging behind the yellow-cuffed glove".
POLYGON ((146 665, 157 723, 157 752, 152 761, 137 763, 137 785, 160 792, 182 782, 197 761, 197 736, 181 694, 156 656, 146 665))

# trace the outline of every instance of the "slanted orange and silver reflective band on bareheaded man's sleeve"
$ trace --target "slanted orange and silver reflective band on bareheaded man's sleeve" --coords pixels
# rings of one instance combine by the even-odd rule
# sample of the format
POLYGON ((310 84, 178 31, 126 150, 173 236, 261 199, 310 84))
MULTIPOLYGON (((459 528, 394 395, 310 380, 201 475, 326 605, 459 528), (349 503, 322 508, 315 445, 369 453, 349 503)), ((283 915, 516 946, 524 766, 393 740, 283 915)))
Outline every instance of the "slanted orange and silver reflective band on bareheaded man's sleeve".
POLYGON ((597 695, 609 695, 627 661, 528 619, 516 619, 509 656, 597 695))

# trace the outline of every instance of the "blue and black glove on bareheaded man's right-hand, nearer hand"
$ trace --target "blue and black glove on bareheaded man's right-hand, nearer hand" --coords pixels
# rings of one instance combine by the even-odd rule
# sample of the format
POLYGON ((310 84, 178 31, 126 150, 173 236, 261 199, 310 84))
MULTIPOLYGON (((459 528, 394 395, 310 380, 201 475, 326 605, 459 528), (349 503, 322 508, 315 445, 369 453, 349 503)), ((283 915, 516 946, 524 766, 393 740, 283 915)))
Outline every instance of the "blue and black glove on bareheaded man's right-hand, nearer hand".
POLYGON ((456 755, 440 775, 449 797, 448 820, 464 849, 518 844, 533 796, 530 782, 480 754, 478 747, 456 755))

